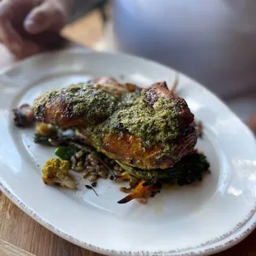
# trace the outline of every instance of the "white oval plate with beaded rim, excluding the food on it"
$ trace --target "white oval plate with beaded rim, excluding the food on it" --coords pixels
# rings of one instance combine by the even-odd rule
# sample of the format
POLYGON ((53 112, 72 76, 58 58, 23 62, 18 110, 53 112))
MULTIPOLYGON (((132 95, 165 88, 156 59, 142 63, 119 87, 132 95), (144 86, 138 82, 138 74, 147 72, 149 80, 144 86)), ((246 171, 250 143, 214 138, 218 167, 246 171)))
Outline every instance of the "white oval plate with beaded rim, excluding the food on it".
POLYGON ((211 92, 181 75, 178 92, 205 138, 197 147, 211 162, 202 183, 165 189, 147 205, 124 197, 120 185, 101 180, 98 197, 84 187, 45 186, 40 168, 53 149, 35 145, 33 130, 12 125, 12 108, 40 93, 99 75, 149 86, 173 82, 174 72, 127 55, 65 50, 37 55, 0 75, 0 183, 21 210, 55 234, 102 254, 213 254, 244 239, 255 226, 256 145, 254 136, 211 92))

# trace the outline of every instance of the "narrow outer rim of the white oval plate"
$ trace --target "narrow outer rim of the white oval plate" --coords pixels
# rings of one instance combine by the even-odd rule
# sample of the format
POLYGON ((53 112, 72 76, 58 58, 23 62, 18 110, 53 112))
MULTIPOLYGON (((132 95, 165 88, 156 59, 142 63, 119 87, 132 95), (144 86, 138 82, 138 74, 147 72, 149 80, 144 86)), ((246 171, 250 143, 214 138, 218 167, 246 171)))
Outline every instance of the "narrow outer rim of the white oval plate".
MULTIPOLYGON (((144 60, 148 63, 158 64, 159 66, 162 66, 164 68, 176 71, 175 69, 173 69, 171 67, 168 67, 164 64, 159 64, 159 63, 157 63, 153 60, 138 57, 138 56, 135 56, 135 55, 123 54, 123 53, 112 53, 112 52, 107 52, 107 51, 100 52, 100 51, 88 50, 86 48, 83 49, 83 48, 80 48, 80 47, 79 48, 78 47, 77 48, 72 48, 72 49, 68 49, 68 50, 66 49, 66 50, 55 50, 54 51, 54 53, 59 53, 59 54, 65 54, 65 53, 70 54, 70 53, 80 53, 80 52, 83 53, 83 54, 119 55, 119 56, 122 56, 124 58, 128 57, 128 58, 134 58, 134 59, 141 59, 141 60, 144 60)), ((17 63, 12 64, 11 66, 8 66, 5 69, 1 69, 0 70, 0 78, 1 78, 2 75, 4 76, 4 73, 6 73, 6 72, 8 72, 12 69, 15 69, 16 67, 21 66, 22 64, 24 64, 26 62, 30 62, 33 59, 42 58, 45 55, 50 55, 50 53, 41 53, 39 55, 34 55, 34 56, 28 57, 26 59, 22 59, 21 61, 18 61, 17 63)), ((180 72, 178 72, 178 73, 180 73, 180 72)), ((187 75, 183 74, 183 73, 180 73, 180 74, 182 74, 183 77, 185 77, 185 78, 189 78, 192 82, 197 83, 197 85, 201 86, 201 88, 203 88, 204 90, 206 90, 208 92, 211 92, 209 89, 205 88, 203 85, 201 85, 201 83, 198 83, 193 78, 187 77, 187 75)), ((220 100, 219 97, 217 97, 212 92, 211 92, 211 94, 212 94, 213 97, 216 97, 220 101, 222 107, 227 108, 236 117, 236 119, 239 120, 239 117, 235 115, 234 111, 230 110, 230 108, 227 107, 225 105, 225 103, 220 100)), ((245 124, 242 121, 240 121, 240 122, 244 125, 245 129, 247 129, 251 134, 253 134, 249 130, 249 128, 247 126, 245 126, 245 124)), ((83 247, 84 249, 88 249, 88 250, 91 250, 93 252, 100 253, 100 254, 106 254, 106 255, 119 255, 119 254, 126 255, 126 254, 129 254, 129 255, 179 255, 179 256, 182 256, 182 255, 191 255, 191 254, 194 254, 194 255, 216 254, 216 253, 219 253, 219 252, 221 252, 225 249, 229 249, 230 247, 234 246, 235 244, 239 244, 239 242, 242 241, 243 239, 245 239, 249 234, 251 234, 252 231, 256 227, 256 212, 254 211, 254 214, 252 216, 250 216, 250 218, 247 219, 247 222, 243 225, 243 227, 246 227, 245 231, 241 232, 242 230, 239 230, 239 229, 235 230, 235 232, 232 234, 232 235, 235 235, 235 239, 229 239, 228 242, 226 242, 225 244, 223 244, 223 242, 221 243, 221 240, 220 240, 220 241, 218 241, 218 242, 220 242, 220 245, 218 245, 218 246, 215 246, 215 244, 218 243, 216 241, 216 242, 213 242, 211 245, 209 245, 209 244, 208 245, 207 244, 200 244, 197 247, 193 247, 191 249, 190 248, 182 249, 181 251, 177 251, 177 253, 173 253, 173 251, 159 251, 159 252, 154 252, 154 253, 153 252, 145 252, 145 251, 140 251, 140 252, 116 251, 116 250, 104 249, 104 248, 98 247, 96 245, 88 244, 88 243, 86 243, 85 241, 83 241, 81 239, 76 239, 75 237, 65 233, 63 230, 60 230, 58 227, 56 227, 54 225, 51 225, 47 220, 45 220, 45 218, 40 216, 35 211, 32 211, 30 206, 26 206, 26 204, 23 203, 15 193, 10 192, 8 187, 6 185, 4 185, 4 182, 2 181, 1 177, 0 177, 0 189, 8 199, 10 199, 16 206, 18 206, 21 209, 21 211, 24 211, 28 216, 31 216, 31 218, 33 220, 36 220, 36 222, 40 223, 40 225, 45 226, 45 228, 47 228, 51 232, 55 233, 55 235, 59 235, 61 238, 66 239, 69 242, 71 242, 73 244, 76 244, 80 247, 83 247), (251 222, 253 222, 253 223, 251 223, 251 222), (204 248, 206 245, 209 248, 204 248)))

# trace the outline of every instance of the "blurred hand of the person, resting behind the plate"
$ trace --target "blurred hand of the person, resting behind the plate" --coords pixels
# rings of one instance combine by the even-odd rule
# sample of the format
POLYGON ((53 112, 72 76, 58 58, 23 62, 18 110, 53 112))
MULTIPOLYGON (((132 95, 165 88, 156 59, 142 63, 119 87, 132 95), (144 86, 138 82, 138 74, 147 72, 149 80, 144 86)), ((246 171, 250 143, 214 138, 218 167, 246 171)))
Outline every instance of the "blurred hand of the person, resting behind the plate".
POLYGON ((18 58, 55 47, 67 0, 0 1, 0 42, 18 58))

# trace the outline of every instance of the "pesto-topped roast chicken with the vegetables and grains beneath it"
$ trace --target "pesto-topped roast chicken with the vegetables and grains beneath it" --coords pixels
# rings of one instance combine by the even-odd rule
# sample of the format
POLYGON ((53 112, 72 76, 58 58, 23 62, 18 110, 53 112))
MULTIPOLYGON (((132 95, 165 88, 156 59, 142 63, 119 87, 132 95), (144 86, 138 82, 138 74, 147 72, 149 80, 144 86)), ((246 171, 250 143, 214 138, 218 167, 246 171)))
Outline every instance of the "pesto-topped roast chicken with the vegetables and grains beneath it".
POLYGON ((36 122, 35 143, 57 147, 58 158, 42 169, 47 185, 75 189, 72 173, 81 173, 97 192, 97 178, 129 182, 118 203, 145 202, 163 184, 188 185, 210 172, 206 156, 195 149, 201 123, 187 102, 157 82, 141 89, 102 77, 47 92, 33 106, 14 110, 16 126, 36 122), (198 127, 198 130, 197 130, 198 127))

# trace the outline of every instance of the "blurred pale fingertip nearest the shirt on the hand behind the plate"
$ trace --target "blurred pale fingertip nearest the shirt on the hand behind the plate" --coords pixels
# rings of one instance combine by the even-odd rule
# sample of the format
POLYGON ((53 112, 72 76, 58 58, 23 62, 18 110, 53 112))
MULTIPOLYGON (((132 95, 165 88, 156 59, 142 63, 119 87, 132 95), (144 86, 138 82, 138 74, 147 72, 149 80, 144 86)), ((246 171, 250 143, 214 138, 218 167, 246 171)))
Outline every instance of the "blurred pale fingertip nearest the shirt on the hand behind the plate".
POLYGON ((31 34, 46 30, 59 30, 64 26, 64 10, 52 2, 44 2, 34 8, 24 21, 24 28, 31 34))

